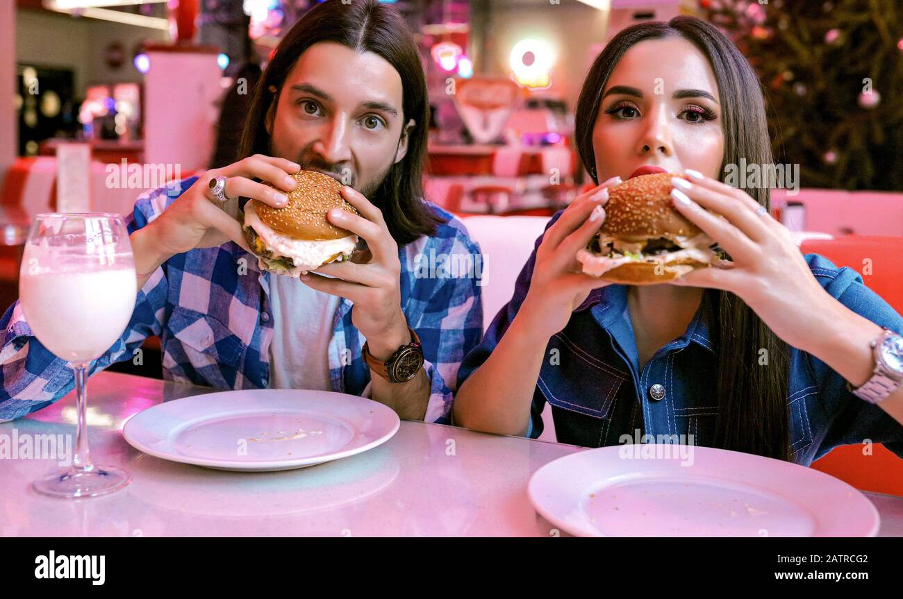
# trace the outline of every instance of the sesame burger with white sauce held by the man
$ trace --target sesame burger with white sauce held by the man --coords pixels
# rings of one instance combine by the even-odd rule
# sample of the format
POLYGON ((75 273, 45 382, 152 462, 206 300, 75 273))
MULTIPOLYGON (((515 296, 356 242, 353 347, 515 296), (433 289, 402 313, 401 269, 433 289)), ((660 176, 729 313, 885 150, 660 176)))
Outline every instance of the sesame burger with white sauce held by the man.
POLYGON ((331 208, 358 214, 342 198, 341 183, 313 170, 300 170, 292 177, 298 185, 286 194, 284 207, 275 208, 255 199, 245 204, 242 228, 260 268, 297 277, 323 264, 349 260, 358 235, 326 218, 331 208))

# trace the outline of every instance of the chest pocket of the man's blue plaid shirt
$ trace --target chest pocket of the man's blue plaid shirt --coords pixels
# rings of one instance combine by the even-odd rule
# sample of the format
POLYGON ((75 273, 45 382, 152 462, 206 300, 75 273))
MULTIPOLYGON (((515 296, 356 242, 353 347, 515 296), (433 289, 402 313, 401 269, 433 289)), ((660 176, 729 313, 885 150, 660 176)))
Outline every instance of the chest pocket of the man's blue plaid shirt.
POLYGON ((245 344, 219 318, 175 306, 167 327, 185 349, 195 367, 206 364, 236 364, 245 344))

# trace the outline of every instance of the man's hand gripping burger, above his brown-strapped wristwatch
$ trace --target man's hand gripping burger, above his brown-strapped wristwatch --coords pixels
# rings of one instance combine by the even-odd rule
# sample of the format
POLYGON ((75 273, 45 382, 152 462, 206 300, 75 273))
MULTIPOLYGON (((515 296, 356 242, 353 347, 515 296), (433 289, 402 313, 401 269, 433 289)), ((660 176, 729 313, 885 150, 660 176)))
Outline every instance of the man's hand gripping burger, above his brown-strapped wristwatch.
POLYGON ((366 240, 368 252, 358 253, 350 261, 323 264, 301 275, 301 280, 312 289, 354 302, 351 322, 367 338, 370 353, 385 361, 398 347, 411 342, 401 309, 398 244, 389 233, 382 211, 368 198, 347 185, 341 194, 358 209, 359 215, 332 208, 327 218, 333 225, 366 240))

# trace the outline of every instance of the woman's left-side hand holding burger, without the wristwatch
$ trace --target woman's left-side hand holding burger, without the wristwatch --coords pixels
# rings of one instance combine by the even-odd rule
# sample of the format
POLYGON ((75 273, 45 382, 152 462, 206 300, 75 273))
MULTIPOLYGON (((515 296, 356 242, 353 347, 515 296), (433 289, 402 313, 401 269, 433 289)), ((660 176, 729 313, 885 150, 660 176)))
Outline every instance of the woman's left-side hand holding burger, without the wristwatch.
POLYGON ((545 231, 536 248, 530 289, 517 312, 518 319, 529 323, 529 330, 544 338, 553 336, 567 325, 591 290, 610 284, 581 272, 576 255, 599 231, 605 221, 608 189, 620 182, 614 177, 582 193, 545 231))

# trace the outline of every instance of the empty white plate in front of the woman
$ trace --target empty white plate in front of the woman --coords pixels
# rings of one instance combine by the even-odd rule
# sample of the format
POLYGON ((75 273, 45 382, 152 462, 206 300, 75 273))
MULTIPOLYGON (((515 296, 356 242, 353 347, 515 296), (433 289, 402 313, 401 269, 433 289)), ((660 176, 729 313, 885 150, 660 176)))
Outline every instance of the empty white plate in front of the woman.
POLYGON ((582 537, 870 537, 880 525, 831 475, 712 447, 588 449, 541 467, 528 490, 545 520, 582 537))

